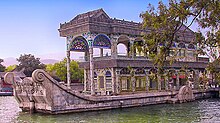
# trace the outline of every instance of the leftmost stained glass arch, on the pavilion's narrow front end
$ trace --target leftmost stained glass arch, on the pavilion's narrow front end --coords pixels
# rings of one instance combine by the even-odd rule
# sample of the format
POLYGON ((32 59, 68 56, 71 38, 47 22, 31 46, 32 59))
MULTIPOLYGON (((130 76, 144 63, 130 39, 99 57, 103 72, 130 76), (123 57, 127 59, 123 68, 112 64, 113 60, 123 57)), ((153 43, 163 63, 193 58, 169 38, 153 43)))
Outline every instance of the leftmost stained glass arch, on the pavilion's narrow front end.
POLYGON ((70 43, 70 51, 81 51, 81 52, 88 51, 87 41, 83 37, 76 37, 70 43))

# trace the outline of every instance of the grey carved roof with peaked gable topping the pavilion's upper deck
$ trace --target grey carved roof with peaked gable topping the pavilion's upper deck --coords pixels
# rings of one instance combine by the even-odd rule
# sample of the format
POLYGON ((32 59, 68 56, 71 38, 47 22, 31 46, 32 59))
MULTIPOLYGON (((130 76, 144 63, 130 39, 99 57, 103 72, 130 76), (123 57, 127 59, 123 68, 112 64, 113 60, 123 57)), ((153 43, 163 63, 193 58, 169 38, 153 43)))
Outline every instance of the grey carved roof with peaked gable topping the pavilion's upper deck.
MULTIPOLYGON (((185 30, 184 38, 180 36, 180 41, 191 42, 194 39, 194 32, 183 26, 179 34, 185 30), (186 29, 186 30, 185 30, 186 29)), ((69 22, 60 24, 60 36, 81 35, 83 33, 103 33, 103 34, 125 34, 132 36, 141 36, 141 32, 148 32, 150 29, 142 29, 142 24, 125 21, 116 18, 110 18, 103 9, 89 11, 79 14, 69 22)))

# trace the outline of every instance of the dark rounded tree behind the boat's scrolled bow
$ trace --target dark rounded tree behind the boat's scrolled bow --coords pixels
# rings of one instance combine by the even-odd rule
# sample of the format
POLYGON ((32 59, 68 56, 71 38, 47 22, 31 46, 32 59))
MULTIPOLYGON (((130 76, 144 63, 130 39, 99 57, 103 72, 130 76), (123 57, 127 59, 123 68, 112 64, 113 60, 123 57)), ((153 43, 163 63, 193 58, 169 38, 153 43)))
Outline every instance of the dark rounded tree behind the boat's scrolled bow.
POLYGON ((36 69, 45 69, 45 65, 40 62, 40 58, 35 58, 34 55, 24 54, 17 59, 19 62, 18 70, 24 69, 24 74, 28 77, 36 69))

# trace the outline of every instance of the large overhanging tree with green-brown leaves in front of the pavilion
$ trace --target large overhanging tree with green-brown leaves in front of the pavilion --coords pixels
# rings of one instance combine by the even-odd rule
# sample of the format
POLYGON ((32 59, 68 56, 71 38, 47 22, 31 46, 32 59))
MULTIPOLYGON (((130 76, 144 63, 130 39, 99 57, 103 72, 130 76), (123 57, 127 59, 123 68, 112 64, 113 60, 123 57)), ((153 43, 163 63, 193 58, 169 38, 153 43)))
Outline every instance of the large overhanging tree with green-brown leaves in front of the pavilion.
MULTIPOLYGON (((169 0, 168 5, 161 1, 157 9, 149 4, 147 11, 140 17, 143 19, 143 29, 150 30, 143 35, 148 52, 158 68, 164 66, 177 32, 184 26, 186 30, 193 23, 198 24, 200 29, 196 32, 195 43, 199 46, 200 54, 207 54, 204 49, 212 51, 220 47, 219 0, 169 0), (159 44, 163 44, 160 50, 159 44)), ((216 53, 208 53, 217 58, 216 53)))

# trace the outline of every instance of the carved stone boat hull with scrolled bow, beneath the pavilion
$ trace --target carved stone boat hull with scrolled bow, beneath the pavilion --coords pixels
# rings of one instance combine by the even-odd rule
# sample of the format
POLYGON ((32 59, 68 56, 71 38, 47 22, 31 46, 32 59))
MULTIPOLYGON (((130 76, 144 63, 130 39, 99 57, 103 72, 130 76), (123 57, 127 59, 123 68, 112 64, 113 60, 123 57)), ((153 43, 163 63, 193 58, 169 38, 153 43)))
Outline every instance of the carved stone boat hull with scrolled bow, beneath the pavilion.
POLYGON ((192 91, 187 86, 174 92, 91 96, 68 89, 43 70, 35 70, 31 78, 14 78, 13 85, 14 96, 23 111, 50 114, 186 102, 213 96, 211 91, 192 91))

